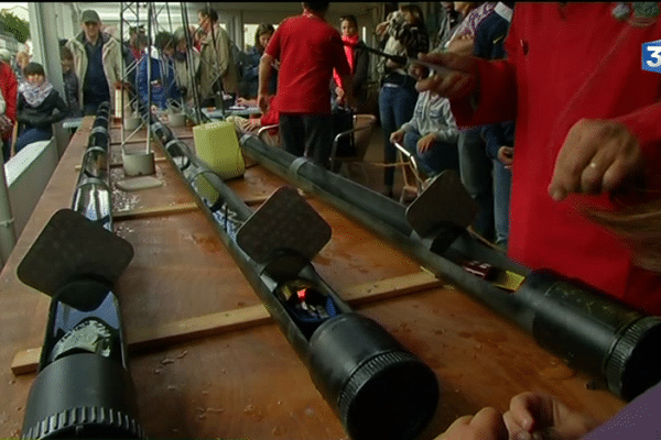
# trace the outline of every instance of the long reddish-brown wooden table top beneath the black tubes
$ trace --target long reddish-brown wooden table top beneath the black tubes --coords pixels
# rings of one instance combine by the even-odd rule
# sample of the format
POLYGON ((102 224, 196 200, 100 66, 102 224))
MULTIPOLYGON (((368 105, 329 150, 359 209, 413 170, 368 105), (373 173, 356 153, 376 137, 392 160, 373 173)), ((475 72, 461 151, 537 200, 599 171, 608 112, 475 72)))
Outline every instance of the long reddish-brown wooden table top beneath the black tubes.
MULTIPOLYGON (((71 207, 76 165, 91 122, 85 118, 73 136, 0 274, 2 438, 20 435, 35 377, 35 373, 14 375, 10 365, 17 353, 43 343, 50 304, 50 298, 23 285, 15 270, 51 216, 71 207)), ((189 128, 175 130, 193 144, 189 128)), ((112 136, 119 136, 118 129, 112 136)), ((119 145, 112 148, 117 155, 119 145)), ((112 176, 121 178, 121 167, 113 167, 112 176)), ((133 193, 116 189, 115 212, 153 212, 194 202, 170 163, 156 162, 156 176, 164 182, 162 187, 133 193)), ((245 199, 254 199, 269 196, 283 182, 254 166, 228 184, 245 199)), ((401 277, 420 274, 413 260, 343 213, 307 199, 333 228, 330 242, 313 263, 340 296, 366 284, 397 284, 401 277)), ((124 219, 118 215, 115 230, 136 251, 116 286, 129 341, 173 322, 199 323, 218 312, 259 308, 258 297, 198 209, 124 219)), ((436 372, 442 397, 423 438, 435 437, 456 417, 484 406, 505 410, 513 395, 529 389, 555 394, 600 420, 624 405, 607 391, 590 389, 588 377, 571 371, 508 320, 449 285, 365 304, 357 310, 380 322, 436 372)), ((303 363, 268 318, 217 334, 137 344, 130 352, 140 417, 150 437, 347 438, 303 363)))

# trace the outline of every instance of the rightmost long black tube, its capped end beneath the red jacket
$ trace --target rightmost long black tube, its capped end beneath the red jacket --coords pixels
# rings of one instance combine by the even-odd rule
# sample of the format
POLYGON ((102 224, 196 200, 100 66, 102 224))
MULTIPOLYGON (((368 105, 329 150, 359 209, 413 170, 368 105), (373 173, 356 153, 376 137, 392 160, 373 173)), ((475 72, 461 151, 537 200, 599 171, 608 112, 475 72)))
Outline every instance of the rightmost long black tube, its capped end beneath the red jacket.
POLYGON ((661 381, 661 319, 646 317, 596 289, 549 271, 530 271, 466 234, 437 254, 412 232, 404 208, 362 186, 332 175, 310 161, 241 139, 246 154, 293 185, 318 196, 393 242, 436 276, 460 287, 532 334, 542 346, 631 399, 661 381), (507 293, 465 272, 449 257, 487 262, 527 278, 507 293), (571 317, 571 318, 568 318, 571 317))

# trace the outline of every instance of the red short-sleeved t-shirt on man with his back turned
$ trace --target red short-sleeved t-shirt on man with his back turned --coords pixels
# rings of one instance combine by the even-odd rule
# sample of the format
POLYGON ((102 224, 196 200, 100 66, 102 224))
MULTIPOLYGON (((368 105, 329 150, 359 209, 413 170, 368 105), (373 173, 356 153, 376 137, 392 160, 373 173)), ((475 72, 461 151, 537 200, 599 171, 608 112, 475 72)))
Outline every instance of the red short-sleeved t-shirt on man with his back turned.
POLYGON ((278 95, 280 113, 330 114, 333 68, 350 75, 339 32, 314 15, 285 19, 266 53, 280 61, 278 95))

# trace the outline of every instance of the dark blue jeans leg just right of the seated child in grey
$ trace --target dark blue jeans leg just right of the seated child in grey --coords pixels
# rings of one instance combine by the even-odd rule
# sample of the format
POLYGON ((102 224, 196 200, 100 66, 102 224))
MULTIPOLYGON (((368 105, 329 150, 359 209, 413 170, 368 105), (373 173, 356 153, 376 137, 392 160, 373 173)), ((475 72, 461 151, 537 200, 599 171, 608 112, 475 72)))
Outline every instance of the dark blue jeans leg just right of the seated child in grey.
POLYGON ((459 133, 459 174, 468 194, 477 202, 473 228, 487 240, 494 235, 494 178, 479 128, 459 133))

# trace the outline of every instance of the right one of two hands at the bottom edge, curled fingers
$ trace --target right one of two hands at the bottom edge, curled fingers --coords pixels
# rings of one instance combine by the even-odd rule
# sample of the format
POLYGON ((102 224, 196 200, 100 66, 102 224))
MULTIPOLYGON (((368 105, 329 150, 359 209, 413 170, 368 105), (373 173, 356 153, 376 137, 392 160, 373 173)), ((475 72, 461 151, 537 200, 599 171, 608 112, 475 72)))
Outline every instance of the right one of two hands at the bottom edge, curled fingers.
POLYGON ((532 392, 512 397, 502 419, 510 438, 517 440, 574 440, 599 425, 549 394, 532 392))

